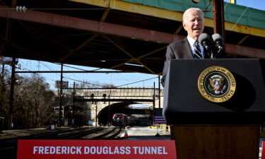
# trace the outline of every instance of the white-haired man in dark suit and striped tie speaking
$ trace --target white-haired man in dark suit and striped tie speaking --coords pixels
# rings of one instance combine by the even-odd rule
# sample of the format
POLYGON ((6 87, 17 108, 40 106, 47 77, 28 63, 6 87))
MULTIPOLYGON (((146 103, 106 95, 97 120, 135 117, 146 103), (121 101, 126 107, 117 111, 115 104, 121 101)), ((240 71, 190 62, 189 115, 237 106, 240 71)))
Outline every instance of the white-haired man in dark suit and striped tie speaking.
POLYGON ((208 59, 204 54, 204 48, 199 45, 198 38, 204 31, 204 13, 199 8, 189 8, 183 14, 182 25, 188 35, 183 40, 173 42, 167 46, 162 86, 165 86, 165 78, 170 59, 208 59))

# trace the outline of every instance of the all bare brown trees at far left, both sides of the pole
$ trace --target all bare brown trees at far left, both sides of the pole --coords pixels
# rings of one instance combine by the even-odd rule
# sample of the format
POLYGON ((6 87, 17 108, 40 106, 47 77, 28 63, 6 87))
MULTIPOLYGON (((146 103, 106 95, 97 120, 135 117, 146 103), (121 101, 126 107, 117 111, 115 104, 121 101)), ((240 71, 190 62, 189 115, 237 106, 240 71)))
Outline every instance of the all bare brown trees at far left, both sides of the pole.
MULTIPOLYGON (((1 70, 4 70, 1 68, 1 70)), ((0 117, 4 117, 4 129, 8 125, 10 95, 10 71, 1 71, 0 117)), ((49 123, 54 105, 54 93, 49 90, 45 79, 37 74, 25 77, 16 75, 13 104, 13 128, 40 127, 49 123)))

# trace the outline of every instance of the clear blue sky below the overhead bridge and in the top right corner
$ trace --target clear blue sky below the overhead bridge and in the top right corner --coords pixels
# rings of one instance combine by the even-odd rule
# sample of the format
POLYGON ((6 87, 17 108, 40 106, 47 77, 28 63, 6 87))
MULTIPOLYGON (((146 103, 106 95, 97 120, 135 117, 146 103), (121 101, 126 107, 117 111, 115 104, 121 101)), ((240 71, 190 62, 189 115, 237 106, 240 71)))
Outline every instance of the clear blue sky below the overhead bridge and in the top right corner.
MULTIPOLYGON (((229 1, 229 0, 225 0, 229 1)), ((265 10, 264 0, 237 0, 237 4, 242 6, 249 6, 251 8, 257 8, 265 10)), ((52 64, 45 61, 33 61, 27 59, 19 59, 18 66, 20 69, 16 71, 60 71, 61 66, 59 64, 52 64)), ((78 69, 72 69, 66 65, 64 71, 78 71, 78 69)), ((84 67, 84 66, 73 66, 88 71, 95 70, 97 68, 84 67)), ((107 69, 101 69, 99 71, 107 71, 107 69)), ((25 78, 30 77, 30 73, 20 73, 20 76, 25 78)), ((40 73, 40 76, 46 79, 52 90, 56 90, 55 81, 60 80, 60 73, 40 73)), ((88 83, 102 84, 113 84, 114 86, 122 87, 153 87, 158 88, 158 75, 151 75, 146 73, 64 73, 64 81, 69 81, 69 87, 73 87, 73 82, 80 83, 86 81, 88 83), (73 79, 73 80, 71 80, 73 79), (130 84, 131 83, 131 84, 130 84)), ((161 87, 162 88, 162 87, 161 87)))

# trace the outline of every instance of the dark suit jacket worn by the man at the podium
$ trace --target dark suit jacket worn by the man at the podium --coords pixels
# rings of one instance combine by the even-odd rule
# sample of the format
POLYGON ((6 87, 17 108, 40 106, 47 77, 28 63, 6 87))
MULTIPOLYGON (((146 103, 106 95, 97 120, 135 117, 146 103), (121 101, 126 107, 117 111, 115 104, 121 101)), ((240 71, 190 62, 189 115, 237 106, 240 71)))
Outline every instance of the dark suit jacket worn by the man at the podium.
MULTIPOLYGON (((204 58, 208 59, 208 55, 204 54, 204 58)), ((189 46, 189 41, 187 40, 187 37, 178 42, 173 42, 167 46, 167 52, 165 53, 163 77, 161 79, 162 86, 165 86, 165 77, 167 75, 167 69, 170 59, 194 59, 192 55, 192 49, 189 46)))

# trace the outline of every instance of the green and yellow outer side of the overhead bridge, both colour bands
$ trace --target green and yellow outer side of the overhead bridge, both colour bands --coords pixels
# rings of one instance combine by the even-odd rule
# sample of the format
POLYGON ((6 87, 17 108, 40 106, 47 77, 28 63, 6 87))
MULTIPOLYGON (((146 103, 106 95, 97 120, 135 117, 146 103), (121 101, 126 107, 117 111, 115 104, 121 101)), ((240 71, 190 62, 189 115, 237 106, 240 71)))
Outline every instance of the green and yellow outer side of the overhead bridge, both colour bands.
MULTIPOLYGON (((139 13, 169 20, 182 21, 183 12, 190 7, 205 10, 208 0, 193 4, 188 0, 69 0, 119 11, 139 13)), ((212 10, 212 6, 208 7, 212 10)), ((206 13, 204 25, 213 27, 213 13, 206 13)), ((265 37, 265 11, 225 3, 225 30, 265 37), (244 13, 242 16, 241 14, 244 13)))

